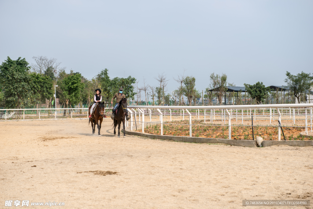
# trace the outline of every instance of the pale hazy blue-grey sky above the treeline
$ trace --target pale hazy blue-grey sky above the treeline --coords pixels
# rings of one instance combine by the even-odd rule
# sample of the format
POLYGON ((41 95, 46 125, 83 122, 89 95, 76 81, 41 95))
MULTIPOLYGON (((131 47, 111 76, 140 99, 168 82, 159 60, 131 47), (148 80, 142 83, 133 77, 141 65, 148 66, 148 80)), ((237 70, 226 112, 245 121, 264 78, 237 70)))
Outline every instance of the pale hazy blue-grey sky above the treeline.
POLYGON ((57 58, 91 79, 135 77, 167 93, 179 74, 205 90, 211 73, 236 86, 285 85, 286 71, 312 73, 313 1, 4 1, 0 63, 57 58))

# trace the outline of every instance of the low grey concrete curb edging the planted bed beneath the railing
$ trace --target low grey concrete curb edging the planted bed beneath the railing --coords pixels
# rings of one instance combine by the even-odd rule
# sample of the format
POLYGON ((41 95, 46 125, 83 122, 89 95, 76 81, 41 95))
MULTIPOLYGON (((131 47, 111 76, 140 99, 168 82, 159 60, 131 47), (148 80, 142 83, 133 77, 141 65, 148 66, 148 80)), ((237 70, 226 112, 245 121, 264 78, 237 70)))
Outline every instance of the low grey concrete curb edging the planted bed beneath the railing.
MULTIPOLYGON (((139 126, 141 128, 141 125, 139 126)), ((123 131, 123 129, 121 129, 121 131, 123 131)), ((255 140, 233 140, 233 139, 223 139, 223 138, 202 138, 202 137, 167 136, 167 135, 161 136, 161 135, 154 135, 150 133, 130 131, 128 128, 125 129, 125 132, 126 134, 129 134, 129 135, 174 140, 176 142, 222 143, 222 144, 228 144, 228 145, 240 146, 240 147, 258 147, 255 140)), ((263 141, 262 142, 262 147, 269 147, 273 145, 289 145, 289 146, 294 146, 294 147, 307 147, 307 146, 313 146, 313 141, 263 141)))

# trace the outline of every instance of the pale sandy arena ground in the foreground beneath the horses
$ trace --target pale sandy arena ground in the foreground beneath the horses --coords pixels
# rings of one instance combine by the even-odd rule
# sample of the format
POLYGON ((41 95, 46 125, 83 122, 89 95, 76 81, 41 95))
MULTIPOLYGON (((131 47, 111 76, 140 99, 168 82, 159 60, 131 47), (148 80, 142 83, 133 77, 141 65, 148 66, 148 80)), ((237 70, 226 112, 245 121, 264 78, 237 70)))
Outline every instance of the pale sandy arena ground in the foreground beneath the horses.
POLYGON ((61 208, 282 208, 242 206, 244 199, 309 199, 309 207, 284 208, 313 208, 313 147, 118 138, 111 124, 107 118, 98 137, 87 120, 0 122, 0 208, 8 208, 5 200, 65 202, 61 208), (118 173, 84 173, 95 170, 118 173))

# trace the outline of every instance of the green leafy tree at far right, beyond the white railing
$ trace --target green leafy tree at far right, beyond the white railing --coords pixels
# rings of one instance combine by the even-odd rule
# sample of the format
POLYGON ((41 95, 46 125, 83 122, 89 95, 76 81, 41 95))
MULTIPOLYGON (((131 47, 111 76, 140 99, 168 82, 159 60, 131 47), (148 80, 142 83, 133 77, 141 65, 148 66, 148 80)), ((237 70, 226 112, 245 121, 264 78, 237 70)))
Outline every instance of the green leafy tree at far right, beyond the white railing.
POLYGON ((313 85, 313 76, 311 76, 311 73, 304 73, 303 71, 297 75, 291 75, 290 72, 286 71, 286 76, 285 82, 300 104, 301 96, 305 94, 306 91, 309 91, 313 85))

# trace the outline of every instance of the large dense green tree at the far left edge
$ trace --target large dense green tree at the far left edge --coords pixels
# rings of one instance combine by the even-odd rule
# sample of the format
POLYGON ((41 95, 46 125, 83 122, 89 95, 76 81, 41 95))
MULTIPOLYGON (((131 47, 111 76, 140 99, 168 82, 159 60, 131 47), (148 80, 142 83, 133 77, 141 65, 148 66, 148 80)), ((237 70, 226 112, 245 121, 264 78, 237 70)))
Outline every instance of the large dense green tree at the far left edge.
POLYGON ((25 108, 31 93, 30 67, 25 58, 11 60, 10 57, 0 65, 0 86, 2 86, 5 105, 8 108, 25 108))

